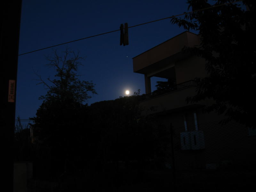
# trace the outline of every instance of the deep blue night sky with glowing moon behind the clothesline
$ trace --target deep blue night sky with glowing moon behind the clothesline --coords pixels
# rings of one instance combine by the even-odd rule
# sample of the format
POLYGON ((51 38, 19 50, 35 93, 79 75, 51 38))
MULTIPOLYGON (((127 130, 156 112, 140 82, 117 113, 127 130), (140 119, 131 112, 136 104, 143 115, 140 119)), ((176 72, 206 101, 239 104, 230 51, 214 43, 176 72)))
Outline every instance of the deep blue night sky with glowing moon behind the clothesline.
MULTIPOLYGON (((112 30, 119 29, 121 23, 128 26, 157 20, 187 11, 187 0, 143 0, 143 1, 57 1, 23 0, 20 23, 19 54, 65 43, 112 30)), ((129 28, 129 45, 120 46, 120 32, 77 41, 55 47, 59 52, 67 47, 79 50, 85 57, 79 74, 84 80, 92 80, 98 95, 93 95, 89 104, 113 100, 124 96, 129 89, 141 89, 145 93, 144 76, 133 73, 132 57, 176 36, 184 31, 172 25, 170 19, 135 28, 129 28)), ((44 79, 54 77, 53 68, 47 68, 46 49, 19 56, 16 118, 28 119, 36 115, 41 105, 40 95, 46 94, 43 85, 36 85, 37 76, 44 79)), ((154 90, 157 78, 151 78, 154 90)))

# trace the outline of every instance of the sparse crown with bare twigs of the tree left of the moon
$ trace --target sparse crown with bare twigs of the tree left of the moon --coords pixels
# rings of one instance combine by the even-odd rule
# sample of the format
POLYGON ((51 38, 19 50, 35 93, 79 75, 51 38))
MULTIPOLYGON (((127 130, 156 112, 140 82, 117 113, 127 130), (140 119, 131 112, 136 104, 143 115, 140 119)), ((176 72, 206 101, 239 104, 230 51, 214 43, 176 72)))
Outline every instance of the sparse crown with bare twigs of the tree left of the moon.
POLYGON ((41 96, 40 99, 52 100, 58 98, 61 102, 71 100, 76 103, 82 103, 87 101, 92 96, 88 95, 89 92, 97 94, 94 90, 94 84, 88 81, 81 81, 77 77, 78 66, 82 63, 80 60, 84 58, 79 57, 79 51, 76 53, 70 49, 66 49, 63 53, 63 57, 60 57, 57 50, 54 51, 54 56, 47 56, 46 60, 49 62, 46 66, 54 67, 57 70, 55 79, 51 79, 50 76, 47 78, 52 86, 47 84, 37 72, 38 84, 44 84, 44 87, 48 89, 45 96, 41 96))

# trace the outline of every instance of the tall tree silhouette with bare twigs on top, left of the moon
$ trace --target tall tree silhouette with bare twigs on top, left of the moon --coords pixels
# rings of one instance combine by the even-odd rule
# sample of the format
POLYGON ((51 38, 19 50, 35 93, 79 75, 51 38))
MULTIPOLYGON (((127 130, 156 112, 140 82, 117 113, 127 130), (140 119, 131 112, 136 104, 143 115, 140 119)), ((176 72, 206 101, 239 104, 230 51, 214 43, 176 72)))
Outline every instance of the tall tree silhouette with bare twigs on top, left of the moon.
POLYGON ((63 56, 54 50, 54 56, 46 58, 49 62, 46 66, 56 70, 56 78, 49 77, 46 82, 37 74, 38 84, 44 85, 47 94, 39 98, 43 103, 37 109, 36 117, 30 119, 34 122, 31 126, 36 144, 40 145, 38 166, 45 164, 47 168, 41 172, 48 175, 60 176, 68 170, 78 170, 75 161, 81 156, 86 126, 87 104, 84 102, 92 97, 89 93, 97 94, 92 82, 78 78, 77 70, 82 59, 79 53, 70 49, 64 51, 63 56))

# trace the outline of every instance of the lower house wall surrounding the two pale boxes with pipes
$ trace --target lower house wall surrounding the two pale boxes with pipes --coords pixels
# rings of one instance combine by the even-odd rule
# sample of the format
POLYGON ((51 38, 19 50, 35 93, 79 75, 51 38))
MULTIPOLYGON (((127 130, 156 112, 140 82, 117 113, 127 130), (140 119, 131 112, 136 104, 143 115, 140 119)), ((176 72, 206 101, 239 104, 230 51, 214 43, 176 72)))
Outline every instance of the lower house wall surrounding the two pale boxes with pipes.
MULTIPOLYGON (((191 169, 234 169, 256 168, 256 136, 248 136, 248 128, 234 121, 221 125, 218 116, 212 112, 203 114, 201 109, 186 110, 160 116, 161 122, 173 127, 174 159, 178 170, 191 169), (185 132, 186 114, 188 131, 195 130, 193 113, 196 111, 198 130, 203 132, 204 149, 182 150, 180 133, 185 132)), ((199 142, 200 140, 198 140, 199 142)), ((171 153, 171 149, 170 149, 171 153)))

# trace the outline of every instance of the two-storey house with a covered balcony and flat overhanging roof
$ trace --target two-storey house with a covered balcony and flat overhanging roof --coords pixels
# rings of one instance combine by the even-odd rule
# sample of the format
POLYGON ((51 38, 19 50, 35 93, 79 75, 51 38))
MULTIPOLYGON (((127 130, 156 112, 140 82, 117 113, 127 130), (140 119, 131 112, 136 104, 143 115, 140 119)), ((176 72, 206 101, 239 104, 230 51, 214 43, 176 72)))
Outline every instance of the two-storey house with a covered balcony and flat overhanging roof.
POLYGON ((224 116, 202 113, 213 100, 186 102, 196 94, 194 78, 207 72, 203 58, 183 53, 182 48, 199 44, 198 35, 185 31, 133 58, 133 71, 145 77, 146 94, 140 101, 144 114, 159 116, 166 128, 172 125, 177 169, 255 167, 255 130, 236 122, 222 126, 224 116), (151 92, 152 76, 174 79, 176 86, 165 93, 151 92))

